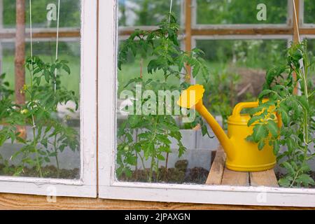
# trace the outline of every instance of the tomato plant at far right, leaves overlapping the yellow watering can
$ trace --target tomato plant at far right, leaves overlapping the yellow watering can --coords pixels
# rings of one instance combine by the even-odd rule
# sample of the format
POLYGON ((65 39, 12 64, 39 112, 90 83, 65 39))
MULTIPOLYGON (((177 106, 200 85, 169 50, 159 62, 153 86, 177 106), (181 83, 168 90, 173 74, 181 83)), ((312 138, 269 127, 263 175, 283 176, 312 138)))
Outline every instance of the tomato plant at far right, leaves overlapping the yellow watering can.
POLYGON ((314 73, 311 73, 314 58, 307 52, 307 41, 293 44, 286 52, 286 60, 286 64, 267 71, 265 87, 259 96, 260 106, 251 111, 248 125, 255 123, 255 127, 248 140, 257 142, 260 149, 265 144, 273 146, 281 167, 286 169, 286 175, 279 180, 281 186, 308 187, 315 184, 309 175, 309 162, 315 158, 311 151, 315 142, 315 108, 314 73), (266 97, 269 101, 262 102, 266 97), (270 113, 281 116, 280 129, 267 111, 270 108, 273 108, 270 113), (281 146, 286 150, 281 151, 281 146))

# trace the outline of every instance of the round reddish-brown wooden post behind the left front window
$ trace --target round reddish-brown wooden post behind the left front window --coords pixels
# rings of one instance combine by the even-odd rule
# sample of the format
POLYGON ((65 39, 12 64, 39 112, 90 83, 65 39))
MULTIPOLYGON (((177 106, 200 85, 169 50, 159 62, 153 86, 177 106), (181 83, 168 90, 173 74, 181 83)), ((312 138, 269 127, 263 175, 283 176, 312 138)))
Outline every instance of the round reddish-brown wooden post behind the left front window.
POLYGON ((15 102, 25 104, 25 0, 16 0, 15 102))

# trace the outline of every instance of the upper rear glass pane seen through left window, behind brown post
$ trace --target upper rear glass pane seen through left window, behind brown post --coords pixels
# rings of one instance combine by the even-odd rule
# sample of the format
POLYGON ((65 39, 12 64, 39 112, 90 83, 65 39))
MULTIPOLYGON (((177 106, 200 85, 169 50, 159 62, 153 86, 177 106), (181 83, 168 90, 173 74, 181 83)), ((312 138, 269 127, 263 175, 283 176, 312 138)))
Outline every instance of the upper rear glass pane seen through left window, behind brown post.
MULTIPOLYGON (((58 1, 31 1, 32 22, 34 28, 57 27, 58 1)), ((29 27, 29 1, 25 1, 27 27, 29 27)), ((3 0, 3 27, 15 27, 15 1, 3 0)), ((59 27, 80 28, 80 1, 60 1, 59 27)))

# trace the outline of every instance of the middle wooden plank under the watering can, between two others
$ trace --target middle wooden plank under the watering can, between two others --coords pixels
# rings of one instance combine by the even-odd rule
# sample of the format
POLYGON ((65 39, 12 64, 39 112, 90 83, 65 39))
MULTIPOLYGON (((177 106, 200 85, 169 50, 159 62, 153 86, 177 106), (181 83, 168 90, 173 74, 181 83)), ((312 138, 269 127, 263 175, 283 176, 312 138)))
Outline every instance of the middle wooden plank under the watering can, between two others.
POLYGON ((235 172, 225 167, 221 185, 249 186, 248 172, 235 172))

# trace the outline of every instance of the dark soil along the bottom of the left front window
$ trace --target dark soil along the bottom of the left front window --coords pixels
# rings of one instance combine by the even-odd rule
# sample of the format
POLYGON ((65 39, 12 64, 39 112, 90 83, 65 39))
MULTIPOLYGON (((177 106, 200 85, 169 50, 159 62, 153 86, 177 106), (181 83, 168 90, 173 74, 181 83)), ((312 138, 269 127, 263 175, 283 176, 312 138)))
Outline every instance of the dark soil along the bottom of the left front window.
MULTIPOLYGON (((5 167, 0 165, 0 176, 13 176, 15 173, 16 167, 10 166, 5 167)), ((57 168, 54 166, 42 167, 43 178, 53 178, 57 179, 57 168)), ((33 168, 23 168, 19 176, 25 177, 38 177, 39 174, 36 171, 36 167, 33 168)), ((60 169, 59 179, 79 179, 80 170, 79 169, 60 169)))

